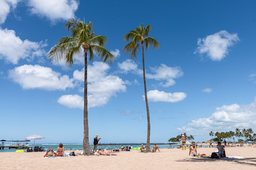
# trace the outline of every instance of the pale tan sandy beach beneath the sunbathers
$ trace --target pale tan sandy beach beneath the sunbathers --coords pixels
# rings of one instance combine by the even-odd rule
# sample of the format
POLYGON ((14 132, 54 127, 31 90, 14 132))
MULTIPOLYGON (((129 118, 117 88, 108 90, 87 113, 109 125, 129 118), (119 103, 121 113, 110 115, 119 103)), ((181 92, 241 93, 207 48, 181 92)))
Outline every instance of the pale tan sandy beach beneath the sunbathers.
MULTIPOLYGON (((210 155, 216 148, 198 148, 201 154, 210 155)), ((116 152, 117 156, 74 156, 43 158, 46 152, 0 152, 1 170, 254 170, 256 147, 228 147, 226 156, 244 158, 210 159, 189 156, 189 149, 160 149, 160 152, 142 153, 139 150, 116 152)), ((68 152, 68 151, 66 151, 68 152)), ((81 151, 76 151, 81 152, 81 151)))

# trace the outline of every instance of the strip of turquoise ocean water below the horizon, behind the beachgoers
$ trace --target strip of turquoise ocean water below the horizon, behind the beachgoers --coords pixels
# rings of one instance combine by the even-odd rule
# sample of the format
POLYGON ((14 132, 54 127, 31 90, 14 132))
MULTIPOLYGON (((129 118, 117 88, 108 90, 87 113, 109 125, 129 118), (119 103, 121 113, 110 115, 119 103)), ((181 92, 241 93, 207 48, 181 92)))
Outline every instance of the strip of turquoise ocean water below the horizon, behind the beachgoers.
MULTIPOLYGON (((57 150, 59 144, 35 144, 35 146, 44 147, 44 150, 46 151, 48 148, 52 148, 53 150, 57 150)), ((130 147, 131 145, 123 145, 124 147, 130 147)), ((134 148, 141 147, 141 145, 132 145, 134 148)), ((146 146, 146 144, 144 145, 146 146)), ((33 148, 33 145, 29 145, 29 147, 33 148)), ((65 150, 83 150, 83 144, 63 144, 63 147, 65 150)), ((93 144, 90 144, 91 149, 93 149, 93 144)), ((154 145, 150 145, 151 148, 154 147, 154 145)), ((159 148, 168 148, 170 145, 158 145, 159 148)), ((172 145, 172 148, 177 148, 178 145, 172 145)), ((208 147, 208 145, 203 145, 203 147, 208 147)), ((121 149, 121 145, 98 145, 97 149, 109 149, 113 150, 114 148, 121 149)), ((16 150, 27 150, 27 149, 9 149, 6 147, 5 149, 0 149, 0 152, 15 152, 16 150)))

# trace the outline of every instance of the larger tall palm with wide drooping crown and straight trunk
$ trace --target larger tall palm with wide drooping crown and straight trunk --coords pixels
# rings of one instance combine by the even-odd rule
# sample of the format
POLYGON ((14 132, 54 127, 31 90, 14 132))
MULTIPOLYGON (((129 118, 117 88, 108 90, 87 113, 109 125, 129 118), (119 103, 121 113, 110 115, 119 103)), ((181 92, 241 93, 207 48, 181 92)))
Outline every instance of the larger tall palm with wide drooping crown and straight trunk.
POLYGON ((62 37, 56 46, 54 46, 48 54, 48 59, 52 63, 58 63, 64 59, 66 65, 73 66, 74 59, 82 57, 84 52, 84 155, 94 155, 89 145, 89 127, 88 127, 88 99, 87 99, 87 55, 89 60, 93 61, 94 54, 103 62, 112 63, 115 59, 108 50, 104 48, 107 37, 98 35, 92 31, 92 22, 89 24, 85 21, 76 21, 69 19, 65 27, 71 32, 71 37, 62 37), (82 49, 84 51, 82 51, 82 49))

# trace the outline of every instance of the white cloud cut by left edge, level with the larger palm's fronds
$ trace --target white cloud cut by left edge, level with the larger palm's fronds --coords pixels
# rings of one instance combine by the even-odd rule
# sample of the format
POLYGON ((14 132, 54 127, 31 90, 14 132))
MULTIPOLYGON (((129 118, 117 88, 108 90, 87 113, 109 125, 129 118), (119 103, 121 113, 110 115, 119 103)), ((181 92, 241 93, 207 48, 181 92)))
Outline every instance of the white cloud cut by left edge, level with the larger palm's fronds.
POLYGON ((22 41, 16 37, 14 30, 0 29, 0 59, 7 63, 18 64, 20 59, 32 60, 38 57, 39 61, 46 55, 44 42, 22 41))

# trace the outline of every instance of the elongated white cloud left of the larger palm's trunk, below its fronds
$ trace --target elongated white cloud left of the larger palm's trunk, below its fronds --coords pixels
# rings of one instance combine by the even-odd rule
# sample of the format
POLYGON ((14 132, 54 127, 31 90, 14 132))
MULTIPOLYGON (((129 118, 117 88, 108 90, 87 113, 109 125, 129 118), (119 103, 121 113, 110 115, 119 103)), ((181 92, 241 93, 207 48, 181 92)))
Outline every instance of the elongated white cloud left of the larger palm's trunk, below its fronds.
POLYGON ((22 65, 8 72, 8 78, 20 84, 23 89, 66 90, 73 88, 73 80, 61 76, 51 68, 39 65, 22 65))

